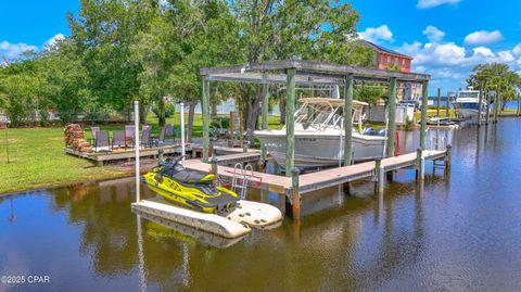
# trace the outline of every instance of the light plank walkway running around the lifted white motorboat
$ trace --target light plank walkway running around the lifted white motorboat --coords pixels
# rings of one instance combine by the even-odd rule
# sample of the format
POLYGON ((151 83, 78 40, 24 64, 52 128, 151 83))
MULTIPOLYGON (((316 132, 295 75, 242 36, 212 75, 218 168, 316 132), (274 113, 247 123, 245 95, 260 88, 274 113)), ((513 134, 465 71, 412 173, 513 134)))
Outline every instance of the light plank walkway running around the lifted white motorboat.
MULTIPOLYGON (((246 153, 244 153, 246 154, 246 153)), ((243 155, 244 155, 243 154, 243 155)), ((381 161, 381 165, 384 172, 396 170, 405 167, 411 167, 416 165, 416 153, 408 153, 396 157, 389 157, 381 161)), ((446 155, 446 151, 423 151, 422 156, 424 160, 441 160, 446 155)), ((231 156, 231 155, 226 155, 231 156)), ((220 156, 220 157, 226 157, 220 156)), ((189 160, 185 162, 185 167, 199 172, 209 172, 211 164, 201 162, 200 160, 189 160)), ((376 162, 365 162, 350 166, 330 168, 310 174, 304 174, 300 176, 298 193, 304 194, 316 190, 325 189, 328 187, 339 186, 345 182, 373 178, 376 176, 376 162)), ((218 167, 219 177, 225 179, 231 179, 233 177, 233 167, 220 166, 218 167)), ((280 194, 289 195, 292 191, 292 181, 290 177, 270 175, 254 172, 254 176, 259 178, 260 183, 258 186, 262 190, 275 191, 280 194)))

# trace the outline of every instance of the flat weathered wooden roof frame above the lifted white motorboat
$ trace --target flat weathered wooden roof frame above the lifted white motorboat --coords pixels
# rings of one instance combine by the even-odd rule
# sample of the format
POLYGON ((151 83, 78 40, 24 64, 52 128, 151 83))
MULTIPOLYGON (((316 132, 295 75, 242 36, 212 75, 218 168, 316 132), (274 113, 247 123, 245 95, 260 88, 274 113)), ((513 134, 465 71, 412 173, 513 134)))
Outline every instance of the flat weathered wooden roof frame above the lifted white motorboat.
POLYGON ((427 74, 404 73, 368 67, 356 67, 317 61, 287 60, 259 64, 244 64, 201 69, 201 76, 208 81, 237 81, 252 84, 287 84, 288 69, 295 71, 295 84, 308 86, 344 86, 345 76, 354 80, 423 84, 431 78, 427 74))

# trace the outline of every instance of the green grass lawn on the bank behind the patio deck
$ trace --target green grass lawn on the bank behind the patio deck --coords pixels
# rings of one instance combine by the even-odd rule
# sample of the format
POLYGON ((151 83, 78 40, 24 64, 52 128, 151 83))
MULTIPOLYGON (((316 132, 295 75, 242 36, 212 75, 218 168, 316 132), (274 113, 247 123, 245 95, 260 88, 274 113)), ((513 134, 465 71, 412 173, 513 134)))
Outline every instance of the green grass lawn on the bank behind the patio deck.
MULTIPOLYGON (((147 118, 152 125, 153 135, 158 135, 157 118, 151 114, 147 118)), ((188 122, 188 115, 186 116, 188 122)), ((180 115, 167 118, 168 124, 177 128, 180 115)), ((269 117, 270 128, 280 128, 277 116, 269 117)), ((102 125, 101 129, 123 129, 123 125, 102 125)), ((90 128, 86 126, 86 138, 90 138, 90 128)), ((201 114, 194 118, 193 136, 201 137, 203 120, 201 114)), ((0 193, 23 191, 41 187, 58 186, 85 180, 114 178, 129 175, 132 169, 104 166, 94 167, 92 163, 64 153, 62 127, 51 128, 11 128, 9 135, 10 161, 8 164, 4 142, 5 130, 0 130, 0 193)))

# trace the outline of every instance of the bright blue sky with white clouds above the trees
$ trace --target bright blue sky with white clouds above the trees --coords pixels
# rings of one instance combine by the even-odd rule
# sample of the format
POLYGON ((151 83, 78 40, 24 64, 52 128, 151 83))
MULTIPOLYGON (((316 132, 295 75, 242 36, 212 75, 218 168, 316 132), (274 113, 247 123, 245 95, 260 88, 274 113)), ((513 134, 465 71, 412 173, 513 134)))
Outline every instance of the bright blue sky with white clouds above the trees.
MULTIPOLYGON (((432 75, 431 94, 465 87, 480 63, 504 62, 521 73, 521 1, 352 0, 360 37, 415 58, 412 69, 432 75)), ((66 13, 79 1, 3 1, 0 56, 15 58, 68 35, 66 13), (51 4, 52 3, 52 4, 51 4)))

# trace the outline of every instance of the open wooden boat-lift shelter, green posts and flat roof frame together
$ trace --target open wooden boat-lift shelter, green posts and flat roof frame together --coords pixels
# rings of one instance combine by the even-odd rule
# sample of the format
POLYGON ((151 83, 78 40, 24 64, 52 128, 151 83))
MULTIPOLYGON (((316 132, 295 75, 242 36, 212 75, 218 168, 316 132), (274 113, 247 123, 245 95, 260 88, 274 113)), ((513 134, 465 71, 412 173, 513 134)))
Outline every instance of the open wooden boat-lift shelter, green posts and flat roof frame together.
MULTIPOLYGON (((425 149, 427 132, 427 96, 428 85, 431 78, 428 74, 405 73, 399 71, 386 71, 332 64, 318 61, 285 60, 259 64, 244 64, 224 67, 208 67, 200 71, 202 76, 201 105, 203 112, 203 161, 208 162, 209 150, 209 84, 212 81, 232 81, 262 85, 262 128, 268 128, 268 98, 270 85, 285 86, 285 175, 297 176, 298 169, 294 168, 295 136, 294 136, 294 113, 295 113, 295 90, 296 85, 301 86, 342 86, 344 88, 343 99, 336 101, 339 105, 343 101, 344 125, 344 165, 352 164, 353 155, 353 109, 358 104, 354 102, 354 86, 356 81, 377 81, 389 84, 389 106, 387 106, 387 140, 386 154, 394 156, 395 147, 395 115, 396 115, 396 91, 398 82, 421 84, 421 129, 420 148, 425 149)), ((318 101, 318 100, 317 100, 318 101)), ((254 129, 249 129, 253 132, 254 129)), ((342 141, 342 139, 341 139, 342 141)), ((339 148, 342 148, 339 145, 339 148)), ((266 157, 266 148, 262 144, 262 160, 266 157)), ((295 180, 296 181, 296 180, 295 180)))

